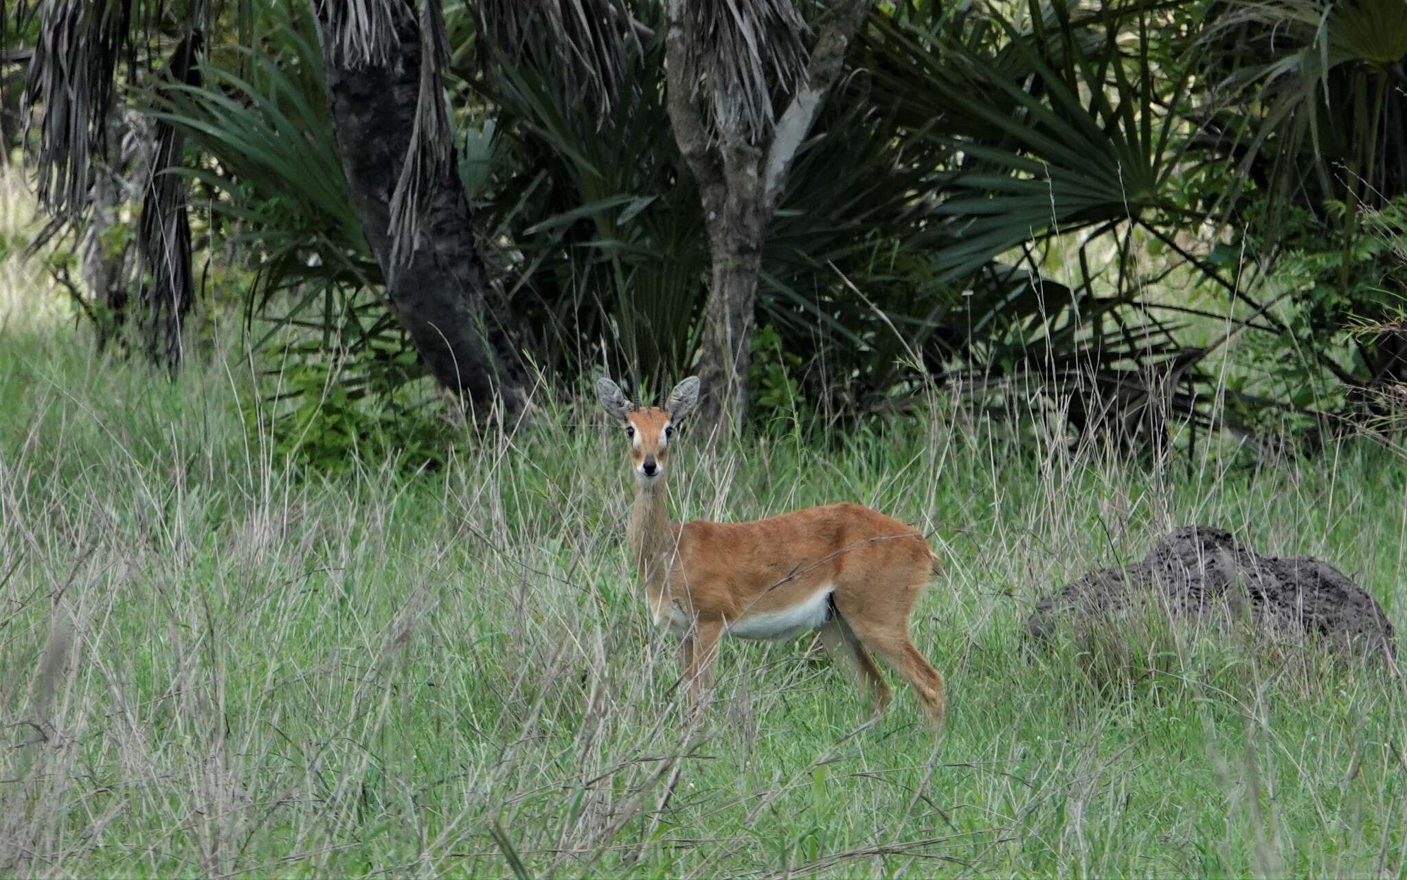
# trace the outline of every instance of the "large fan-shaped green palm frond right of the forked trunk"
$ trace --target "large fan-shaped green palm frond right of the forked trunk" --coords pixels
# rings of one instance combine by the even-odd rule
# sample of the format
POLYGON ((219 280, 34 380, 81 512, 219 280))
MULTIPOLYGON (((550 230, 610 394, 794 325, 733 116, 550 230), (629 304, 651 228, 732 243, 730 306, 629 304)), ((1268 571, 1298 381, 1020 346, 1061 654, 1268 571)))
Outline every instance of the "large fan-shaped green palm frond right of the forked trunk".
MULTIPOLYGON (((1130 11, 1135 23, 1137 15, 1130 11)), ((1038 10, 1033 20, 1041 20, 1038 10)), ((922 63, 941 52, 941 61, 924 63, 931 89, 909 89, 916 72, 905 66, 882 70, 877 84, 881 100, 954 158, 940 208, 951 218, 941 263, 953 279, 1024 241, 1178 211, 1168 186, 1186 145, 1148 86, 1157 77, 1159 97, 1175 100, 1190 69, 1154 70, 1164 62, 1120 58, 1126 23, 1092 34, 1058 18, 1050 37, 1003 27, 998 55, 948 37, 923 41, 893 24, 877 28, 895 62, 922 63)))

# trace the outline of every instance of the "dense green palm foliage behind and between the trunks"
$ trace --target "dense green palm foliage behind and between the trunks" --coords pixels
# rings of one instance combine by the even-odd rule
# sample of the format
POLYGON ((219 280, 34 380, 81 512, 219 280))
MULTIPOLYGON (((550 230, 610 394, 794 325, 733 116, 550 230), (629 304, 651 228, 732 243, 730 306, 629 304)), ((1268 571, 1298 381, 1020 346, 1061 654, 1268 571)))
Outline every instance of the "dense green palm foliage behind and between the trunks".
MULTIPOLYGON (((153 56, 187 21, 169 6, 153 56)), ((200 76, 132 59, 122 96, 184 135, 197 251, 227 269, 215 306, 242 298, 276 396, 424 397, 308 8, 194 6, 200 76)), ((561 21, 485 31, 478 4, 443 3, 443 99, 526 363, 649 393, 696 356, 701 207, 663 3, 581 8, 605 18, 564 61, 561 21), (582 100, 592 70, 605 100, 582 100)), ((1393 424, 1404 55, 1403 0, 879 4, 765 241, 754 420, 902 408, 937 383, 1152 449, 1393 424)))

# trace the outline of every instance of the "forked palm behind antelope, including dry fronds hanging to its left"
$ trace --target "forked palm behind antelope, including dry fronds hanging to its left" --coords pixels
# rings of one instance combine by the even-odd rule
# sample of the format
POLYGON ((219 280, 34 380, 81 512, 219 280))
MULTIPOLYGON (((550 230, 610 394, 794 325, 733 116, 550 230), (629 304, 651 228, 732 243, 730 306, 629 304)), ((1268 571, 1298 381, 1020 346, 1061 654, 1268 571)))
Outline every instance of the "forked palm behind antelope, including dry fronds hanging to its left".
POLYGON ((657 11, 660 4, 663 34, 620 0, 483 0, 480 8, 484 31, 509 54, 537 49, 526 37, 547 28, 557 45, 557 69, 597 103, 609 103, 623 79, 626 41, 664 41, 670 122, 698 186, 709 245, 699 413, 708 424, 734 431, 747 403, 768 228, 874 0, 642 0, 639 6, 657 11), (816 21, 808 24, 801 7, 819 10, 816 21))

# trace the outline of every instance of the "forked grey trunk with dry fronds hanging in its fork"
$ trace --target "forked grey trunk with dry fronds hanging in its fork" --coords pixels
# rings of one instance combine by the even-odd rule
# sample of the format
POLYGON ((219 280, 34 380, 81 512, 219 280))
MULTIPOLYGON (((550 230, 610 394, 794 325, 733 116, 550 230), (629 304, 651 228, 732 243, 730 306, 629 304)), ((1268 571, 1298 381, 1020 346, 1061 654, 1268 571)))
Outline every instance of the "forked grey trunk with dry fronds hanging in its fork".
POLYGON ((872 7, 874 0, 834 0, 805 63, 806 27, 792 0, 668 0, 666 7, 670 120, 699 186, 712 263, 701 413, 720 428, 737 429, 747 403, 768 225, 796 151, 872 7), (774 93, 785 100, 779 117, 774 93))

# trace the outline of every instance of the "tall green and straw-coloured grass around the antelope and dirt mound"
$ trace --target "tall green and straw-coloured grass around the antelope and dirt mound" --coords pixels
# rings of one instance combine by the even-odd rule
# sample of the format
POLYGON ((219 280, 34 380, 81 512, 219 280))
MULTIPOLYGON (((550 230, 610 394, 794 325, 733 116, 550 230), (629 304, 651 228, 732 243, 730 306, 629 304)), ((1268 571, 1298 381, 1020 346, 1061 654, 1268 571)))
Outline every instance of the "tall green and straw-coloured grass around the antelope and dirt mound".
POLYGON ((6 874, 1403 876, 1399 680, 1020 646, 1038 596, 1183 522, 1324 558, 1401 624, 1407 467, 1366 442, 1154 473, 938 404, 687 451, 681 517, 857 500, 930 531, 915 641, 950 694, 940 742, 898 680, 858 729, 803 643, 729 641, 689 729, 595 408, 543 391, 442 470, 298 477, 242 425, 242 369, 0 328, 6 874))

